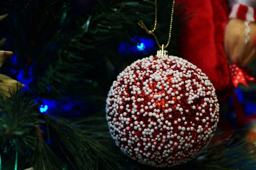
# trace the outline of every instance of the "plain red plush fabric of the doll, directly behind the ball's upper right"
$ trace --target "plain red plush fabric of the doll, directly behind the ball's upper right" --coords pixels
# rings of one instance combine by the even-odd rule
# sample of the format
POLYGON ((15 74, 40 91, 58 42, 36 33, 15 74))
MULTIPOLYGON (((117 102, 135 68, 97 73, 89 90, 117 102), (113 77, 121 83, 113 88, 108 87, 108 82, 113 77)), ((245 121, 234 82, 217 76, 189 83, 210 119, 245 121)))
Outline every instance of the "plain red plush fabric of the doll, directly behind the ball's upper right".
POLYGON ((232 94, 232 81, 224 53, 224 30, 229 8, 225 0, 178 0, 177 5, 192 13, 183 23, 180 57, 197 65, 214 85, 219 100, 232 94))

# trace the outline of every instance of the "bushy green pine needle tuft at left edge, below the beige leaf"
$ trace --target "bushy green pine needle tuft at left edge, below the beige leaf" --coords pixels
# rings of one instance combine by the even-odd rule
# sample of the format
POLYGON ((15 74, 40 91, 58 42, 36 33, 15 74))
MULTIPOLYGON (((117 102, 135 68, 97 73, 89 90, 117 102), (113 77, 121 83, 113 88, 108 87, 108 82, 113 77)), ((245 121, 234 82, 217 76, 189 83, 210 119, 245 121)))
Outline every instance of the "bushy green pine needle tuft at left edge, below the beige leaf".
POLYGON ((10 97, 0 96, 1 148, 11 144, 20 149, 34 149, 35 130, 38 129, 38 113, 34 107, 35 102, 19 92, 10 92, 10 97))

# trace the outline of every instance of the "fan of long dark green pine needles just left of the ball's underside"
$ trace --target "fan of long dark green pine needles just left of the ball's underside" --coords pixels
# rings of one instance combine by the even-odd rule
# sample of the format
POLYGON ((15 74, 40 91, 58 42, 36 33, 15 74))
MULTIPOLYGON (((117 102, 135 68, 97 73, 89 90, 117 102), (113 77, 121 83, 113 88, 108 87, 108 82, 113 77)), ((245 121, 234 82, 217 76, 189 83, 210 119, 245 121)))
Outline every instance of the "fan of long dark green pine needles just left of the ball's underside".
MULTIPOLYGON (((55 134, 55 140, 63 147, 61 152, 77 170, 116 169, 116 157, 109 152, 105 144, 101 144, 88 136, 79 126, 66 119, 49 119, 49 130, 55 134)), ((73 169, 72 168, 72 169, 73 169)))

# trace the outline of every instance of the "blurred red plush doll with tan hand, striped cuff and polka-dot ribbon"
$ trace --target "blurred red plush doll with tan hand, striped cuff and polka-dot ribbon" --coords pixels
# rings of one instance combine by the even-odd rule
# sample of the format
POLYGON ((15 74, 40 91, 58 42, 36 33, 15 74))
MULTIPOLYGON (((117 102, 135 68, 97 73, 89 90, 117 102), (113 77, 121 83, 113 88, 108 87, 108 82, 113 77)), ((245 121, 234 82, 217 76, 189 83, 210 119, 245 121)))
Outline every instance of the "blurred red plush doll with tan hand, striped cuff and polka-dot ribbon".
POLYGON ((239 73, 244 77, 235 74, 255 56, 256 0, 178 0, 177 4, 192 16, 182 26, 180 57, 201 68, 219 102, 226 102, 233 83, 253 80, 244 71, 239 73))

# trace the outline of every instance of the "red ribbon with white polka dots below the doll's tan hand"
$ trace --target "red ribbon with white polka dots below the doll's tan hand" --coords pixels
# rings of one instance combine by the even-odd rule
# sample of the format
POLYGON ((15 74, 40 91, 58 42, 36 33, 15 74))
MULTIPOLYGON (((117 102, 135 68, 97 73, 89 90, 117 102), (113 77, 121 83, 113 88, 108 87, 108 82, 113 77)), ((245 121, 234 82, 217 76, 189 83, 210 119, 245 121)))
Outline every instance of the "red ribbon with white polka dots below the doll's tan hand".
POLYGON ((229 69, 232 77, 232 82, 235 87, 237 87, 239 83, 248 87, 247 82, 255 81, 254 77, 251 77, 247 72, 245 72, 235 64, 229 65, 229 69))

